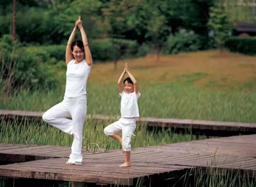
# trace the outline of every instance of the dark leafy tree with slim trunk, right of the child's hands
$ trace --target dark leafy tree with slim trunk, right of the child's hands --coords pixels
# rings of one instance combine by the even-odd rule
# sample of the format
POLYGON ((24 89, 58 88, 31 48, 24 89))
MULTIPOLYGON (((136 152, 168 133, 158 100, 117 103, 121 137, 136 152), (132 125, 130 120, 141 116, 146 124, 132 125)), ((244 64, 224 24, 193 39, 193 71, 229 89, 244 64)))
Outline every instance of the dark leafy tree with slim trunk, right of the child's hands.
MULTIPOLYGON (((170 15, 175 14, 176 0, 110 0, 104 16, 111 26, 111 34, 120 33, 139 44, 150 42, 158 58, 170 35, 170 15)), ((172 17, 173 18, 173 17, 172 17)), ((174 29, 175 30, 175 29, 174 29)), ((157 58, 157 59, 158 59, 157 58)))

